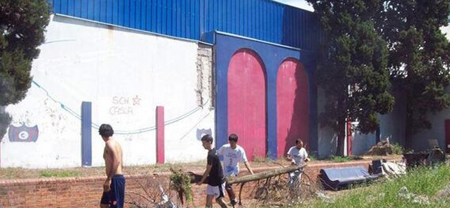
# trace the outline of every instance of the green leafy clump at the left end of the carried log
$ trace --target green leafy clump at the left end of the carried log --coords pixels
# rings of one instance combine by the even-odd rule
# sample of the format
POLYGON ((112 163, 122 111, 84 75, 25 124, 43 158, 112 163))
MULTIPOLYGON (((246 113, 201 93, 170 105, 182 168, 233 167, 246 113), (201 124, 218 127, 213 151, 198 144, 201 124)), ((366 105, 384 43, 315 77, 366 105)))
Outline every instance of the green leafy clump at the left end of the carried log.
POLYGON ((170 189, 183 193, 186 195, 188 202, 192 202, 192 187, 190 184, 190 176, 183 171, 170 168, 172 175, 170 175, 170 189))

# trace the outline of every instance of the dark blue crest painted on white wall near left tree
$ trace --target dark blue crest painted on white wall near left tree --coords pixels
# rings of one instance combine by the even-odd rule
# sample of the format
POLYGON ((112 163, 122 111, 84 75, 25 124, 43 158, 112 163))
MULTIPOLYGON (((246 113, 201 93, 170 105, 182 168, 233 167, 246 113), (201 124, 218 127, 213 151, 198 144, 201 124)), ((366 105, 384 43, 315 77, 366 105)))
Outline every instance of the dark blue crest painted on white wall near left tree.
POLYGON ((21 126, 10 125, 8 137, 11 142, 35 142, 39 136, 37 125, 28 127, 25 124, 21 126))

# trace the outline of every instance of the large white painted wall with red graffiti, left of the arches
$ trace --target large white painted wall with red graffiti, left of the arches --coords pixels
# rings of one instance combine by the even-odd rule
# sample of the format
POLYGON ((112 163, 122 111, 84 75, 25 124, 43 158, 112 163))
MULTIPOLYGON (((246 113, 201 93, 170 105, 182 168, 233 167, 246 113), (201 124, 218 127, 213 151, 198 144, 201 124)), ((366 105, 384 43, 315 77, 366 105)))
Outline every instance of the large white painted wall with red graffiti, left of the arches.
MULTIPOLYGON (((38 125, 39 138, 10 142, 7 133, 1 167, 80 166, 81 123, 73 114, 81 114, 82 101, 92 102, 93 123, 113 126, 125 165, 156 162, 150 128, 157 105, 165 107, 165 121, 179 120, 165 126, 166 161, 204 159, 197 128, 214 132, 214 114, 210 102, 197 103, 197 43, 52 16, 40 49, 31 73, 42 88, 32 84, 24 101, 6 107, 16 125, 38 125)), ((104 142, 96 128, 92 140, 92 164, 102 166, 104 142)))

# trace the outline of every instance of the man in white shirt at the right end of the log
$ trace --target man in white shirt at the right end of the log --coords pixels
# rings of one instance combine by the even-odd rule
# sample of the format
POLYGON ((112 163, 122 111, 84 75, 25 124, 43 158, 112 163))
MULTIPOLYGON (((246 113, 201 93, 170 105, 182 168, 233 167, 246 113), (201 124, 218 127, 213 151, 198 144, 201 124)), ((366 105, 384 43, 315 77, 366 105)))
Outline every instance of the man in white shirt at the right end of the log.
MULTIPOLYGON (((293 146, 287 152, 287 161, 291 162, 292 165, 302 166, 305 162, 309 161, 308 153, 305 148, 303 148, 303 141, 301 139, 296 140, 296 146, 293 146)), ((302 171, 294 171, 289 173, 291 176, 291 180, 289 180, 289 184, 292 184, 295 180, 295 177, 300 179, 302 175, 302 171)))

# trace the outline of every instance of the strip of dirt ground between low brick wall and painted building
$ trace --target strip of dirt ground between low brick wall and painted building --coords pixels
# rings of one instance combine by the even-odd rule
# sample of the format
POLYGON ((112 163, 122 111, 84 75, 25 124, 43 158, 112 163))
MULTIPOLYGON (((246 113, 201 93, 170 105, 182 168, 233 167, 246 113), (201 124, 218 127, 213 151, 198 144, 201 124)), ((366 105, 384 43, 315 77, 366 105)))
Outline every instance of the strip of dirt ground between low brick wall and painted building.
MULTIPOLYGON (((402 155, 390 156, 364 156, 359 159, 401 159, 402 155)), ((319 165, 332 163, 330 160, 314 160, 309 165, 319 165)), ((278 159, 275 162, 269 159, 258 159, 251 162, 251 166, 255 169, 263 170, 264 167, 288 166, 289 162, 278 159)), ((167 173, 170 167, 182 168, 183 171, 199 172, 204 171, 206 161, 190 162, 190 163, 174 163, 174 164, 155 164, 145 166, 125 166, 123 171, 125 175, 152 175, 158 173, 167 173)), ((240 167, 242 171, 246 171, 245 166, 240 167)), ((89 168, 47 168, 47 169, 28 169, 28 168, 0 168, 0 180, 26 179, 26 178, 42 178, 42 177, 93 177, 104 176, 105 167, 89 167, 89 168)))

